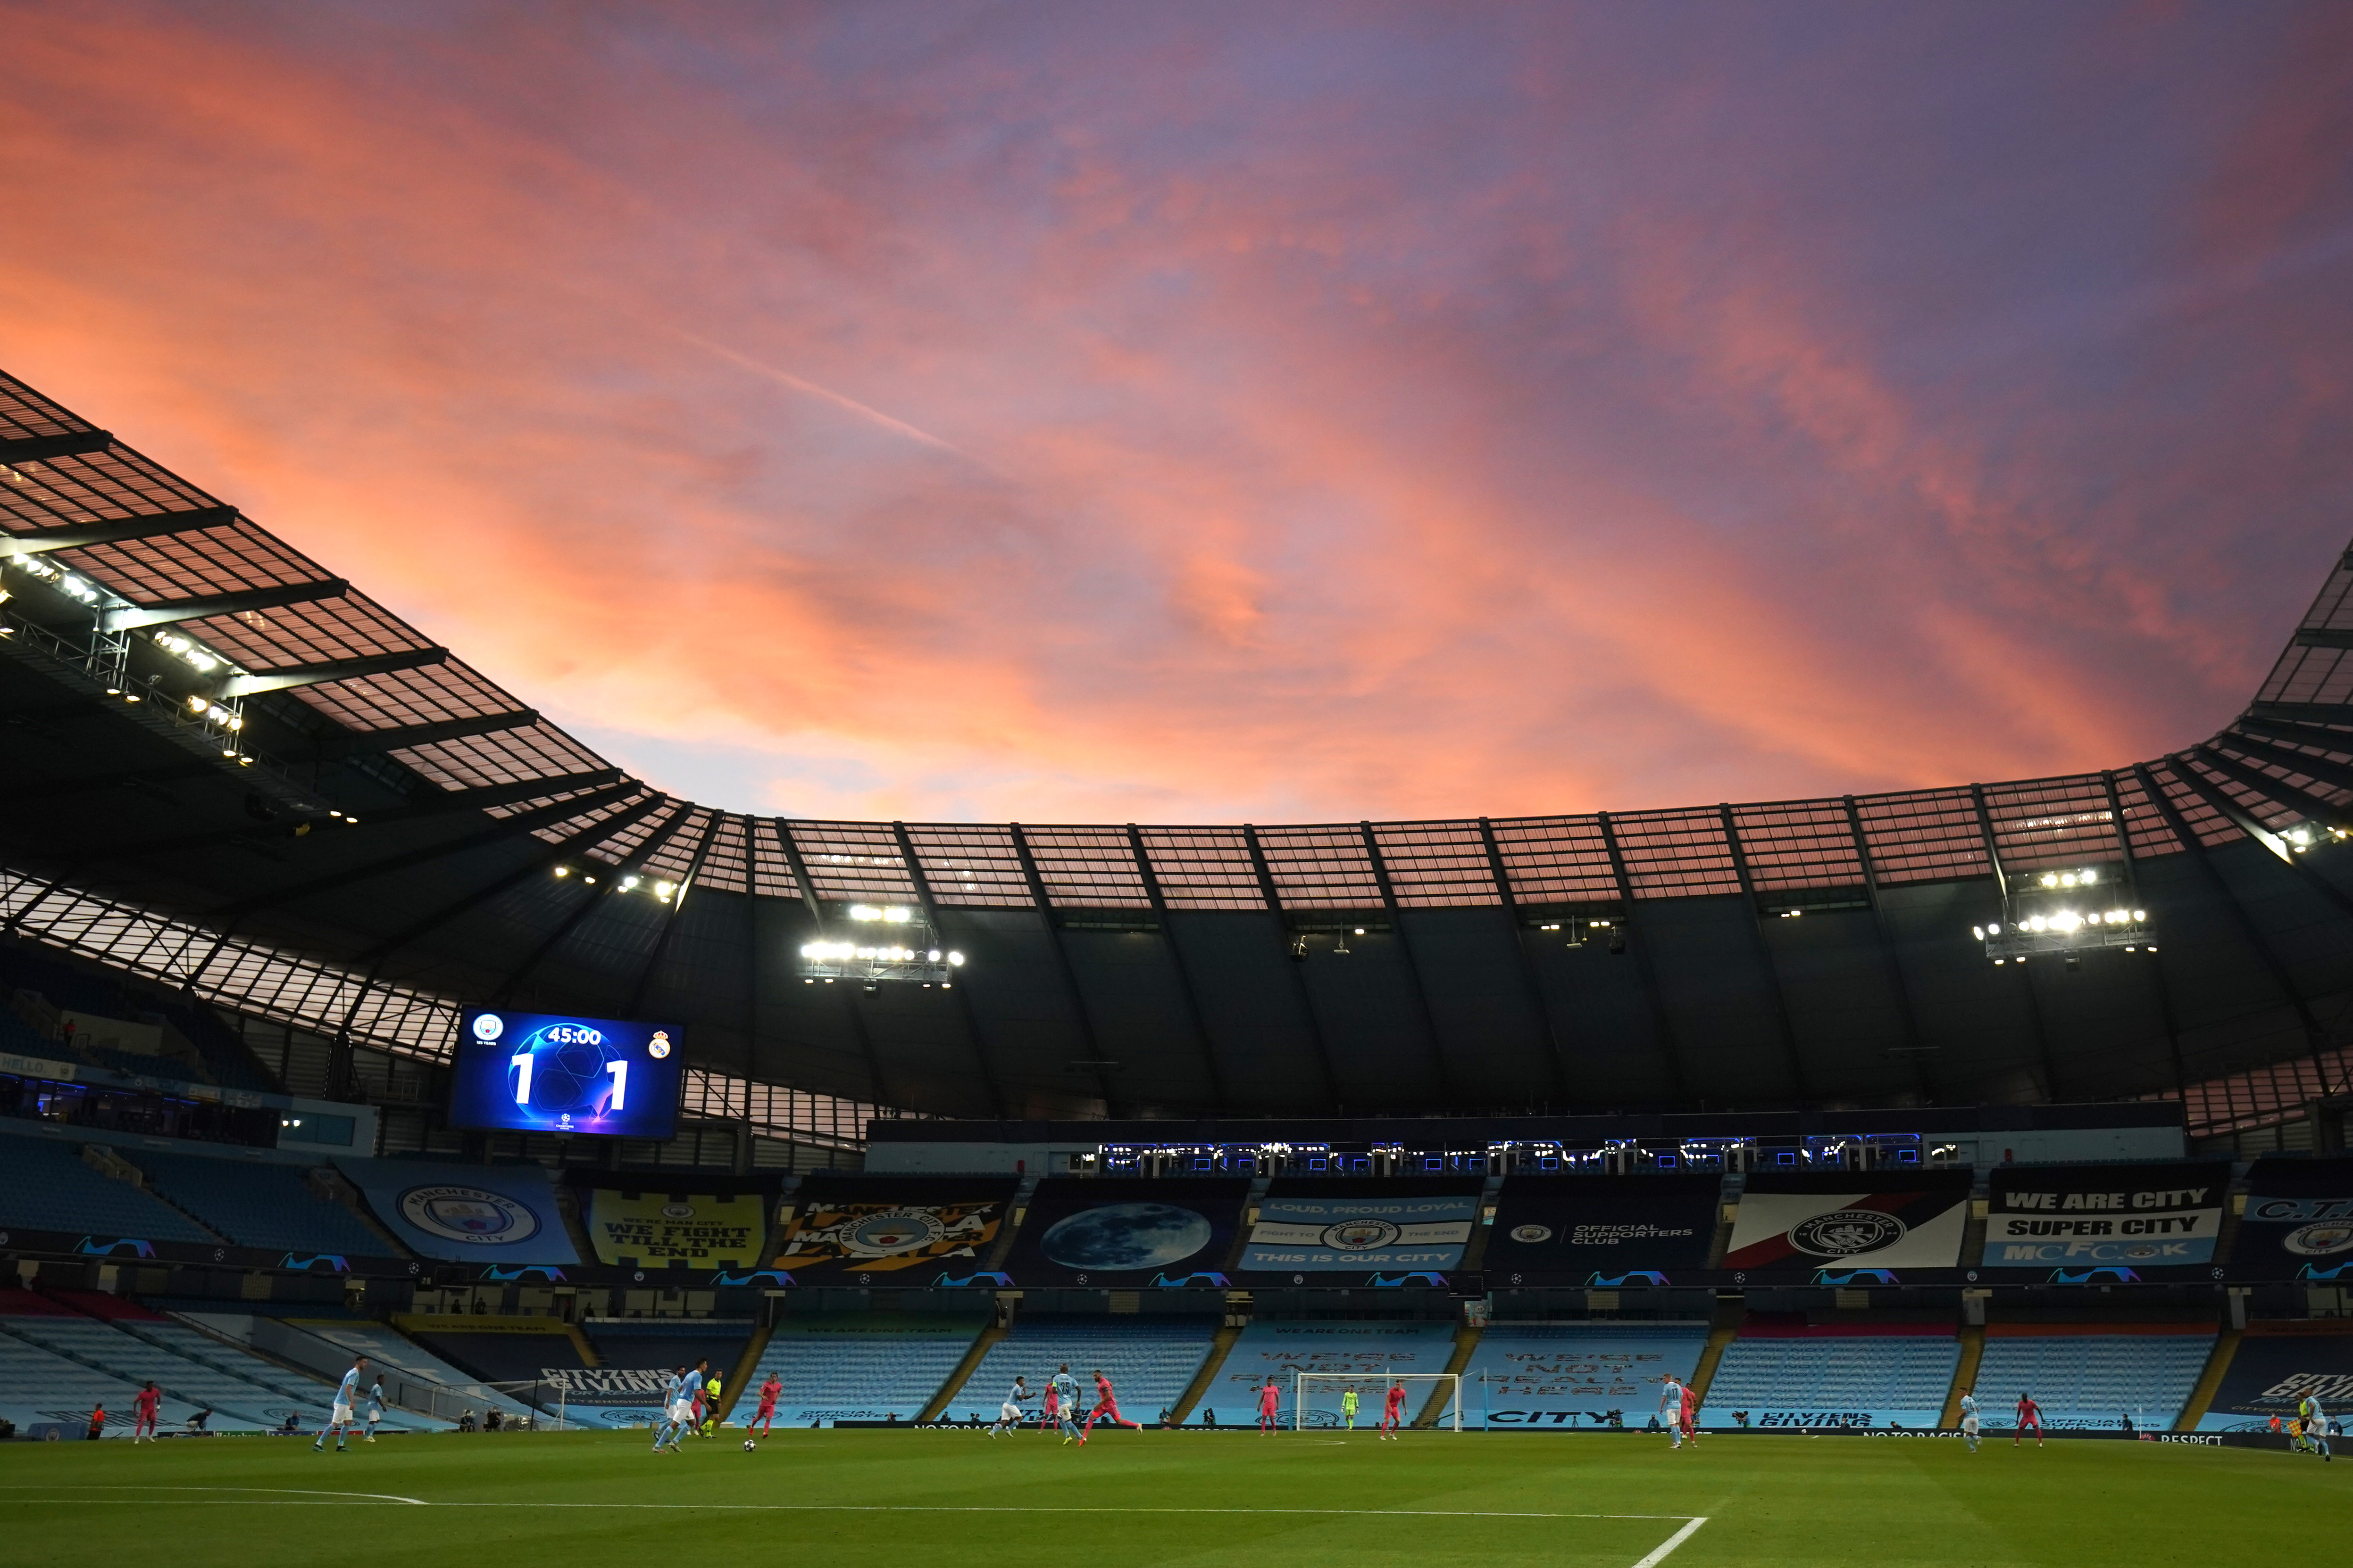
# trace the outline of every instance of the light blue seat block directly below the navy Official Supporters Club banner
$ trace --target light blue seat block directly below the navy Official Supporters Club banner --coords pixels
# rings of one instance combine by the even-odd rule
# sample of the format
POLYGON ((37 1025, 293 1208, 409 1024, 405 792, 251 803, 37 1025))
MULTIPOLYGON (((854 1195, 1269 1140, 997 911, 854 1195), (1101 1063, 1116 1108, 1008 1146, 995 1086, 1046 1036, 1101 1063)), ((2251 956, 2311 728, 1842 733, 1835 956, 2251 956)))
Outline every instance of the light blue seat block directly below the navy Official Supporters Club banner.
POLYGON ((1464 1425, 1499 1432, 1642 1425, 1659 1378, 1689 1378, 1708 1345, 1687 1324, 1489 1324, 1464 1368, 1464 1425))

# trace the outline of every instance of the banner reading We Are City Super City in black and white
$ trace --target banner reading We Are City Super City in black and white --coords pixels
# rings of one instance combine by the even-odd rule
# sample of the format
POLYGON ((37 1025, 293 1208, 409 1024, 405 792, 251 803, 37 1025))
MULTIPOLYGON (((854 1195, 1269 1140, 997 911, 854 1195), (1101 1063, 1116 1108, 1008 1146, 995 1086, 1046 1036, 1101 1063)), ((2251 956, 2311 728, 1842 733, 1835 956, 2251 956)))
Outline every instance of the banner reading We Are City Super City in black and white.
POLYGON ((2165 1166, 1995 1166, 1981 1269, 2052 1284, 2129 1284, 2212 1267, 2228 1161, 2165 1166), (2097 1269, 2097 1274, 2092 1274, 2097 1269))

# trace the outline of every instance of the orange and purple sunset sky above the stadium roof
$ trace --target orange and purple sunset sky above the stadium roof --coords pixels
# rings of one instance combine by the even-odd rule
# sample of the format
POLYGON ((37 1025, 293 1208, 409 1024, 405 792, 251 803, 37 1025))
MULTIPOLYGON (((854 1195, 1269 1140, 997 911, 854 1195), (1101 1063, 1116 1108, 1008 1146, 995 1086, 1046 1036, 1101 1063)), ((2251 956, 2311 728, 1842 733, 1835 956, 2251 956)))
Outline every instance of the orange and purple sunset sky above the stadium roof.
POLYGON ((0 28, 0 369, 718 806, 2115 766, 2353 538, 2341 2, 0 28))

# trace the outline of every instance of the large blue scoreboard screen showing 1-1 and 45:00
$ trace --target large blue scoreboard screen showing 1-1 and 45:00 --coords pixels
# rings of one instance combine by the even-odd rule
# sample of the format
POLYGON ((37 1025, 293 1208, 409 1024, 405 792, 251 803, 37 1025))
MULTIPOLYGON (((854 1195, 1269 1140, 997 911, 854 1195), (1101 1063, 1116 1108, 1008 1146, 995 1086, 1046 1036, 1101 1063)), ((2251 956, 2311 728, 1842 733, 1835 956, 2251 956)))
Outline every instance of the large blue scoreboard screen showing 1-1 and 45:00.
POLYGON ((668 1138, 680 1030, 668 1023, 468 1009, 449 1074, 449 1124, 513 1133, 668 1138))

